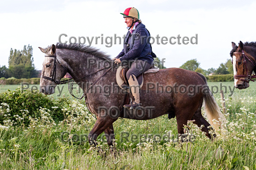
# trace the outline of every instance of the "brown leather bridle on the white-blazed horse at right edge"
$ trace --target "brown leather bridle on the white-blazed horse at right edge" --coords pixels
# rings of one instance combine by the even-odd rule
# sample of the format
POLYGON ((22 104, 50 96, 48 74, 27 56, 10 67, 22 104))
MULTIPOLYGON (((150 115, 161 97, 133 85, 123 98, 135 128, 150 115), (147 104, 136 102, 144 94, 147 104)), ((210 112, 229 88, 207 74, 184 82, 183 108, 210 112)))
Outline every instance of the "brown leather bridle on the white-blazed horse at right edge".
MULTIPOLYGON (((243 68, 243 70, 245 70, 246 71, 246 75, 234 75, 234 79, 237 79, 237 80, 241 80, 241 81, 244 81, 244 82, 246 82, 246 83, 249 83, 249 81, 253 81, 254 82, 254 80, 252 80, 253 78, 256 78, 256 75, 249 75, 248 74, 248 69, 247 69, 247 65, 246 65, 246 60, 245 60, 245 58, 247 58, 253 65, 254 65, 254 67, 255 67, 255 64, 252 62, 252 60, 250 60, 250 58, 248 58, 246 55, 245 55, 245 51, 244 50, 242 50, 242 52, 241 53, 238 53, 238 52, 234 52, 233 54, 243 54, 243 63, 244 63, 244 68, 243 68), (246 78, 246 79, 241 79, 241 78, 246 78)), ((244 71, 243 71, 244 72, 244 71)))

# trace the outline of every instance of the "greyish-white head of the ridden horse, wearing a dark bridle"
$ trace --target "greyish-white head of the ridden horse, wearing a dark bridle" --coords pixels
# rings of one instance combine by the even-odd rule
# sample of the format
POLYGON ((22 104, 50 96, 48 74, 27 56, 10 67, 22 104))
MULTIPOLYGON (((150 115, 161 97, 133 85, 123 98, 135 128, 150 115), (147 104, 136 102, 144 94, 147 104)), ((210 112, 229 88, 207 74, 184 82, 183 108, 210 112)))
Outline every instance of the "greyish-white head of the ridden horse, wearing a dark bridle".
POLYGON ((38 47, 45 53, 45 60, 41 72, 40 91, 44 94, 53 94, 60 79, 65 76, 67 69, 60 64, 61 58, 56 55, 56 47, 53 44, 47 48, 38 47))

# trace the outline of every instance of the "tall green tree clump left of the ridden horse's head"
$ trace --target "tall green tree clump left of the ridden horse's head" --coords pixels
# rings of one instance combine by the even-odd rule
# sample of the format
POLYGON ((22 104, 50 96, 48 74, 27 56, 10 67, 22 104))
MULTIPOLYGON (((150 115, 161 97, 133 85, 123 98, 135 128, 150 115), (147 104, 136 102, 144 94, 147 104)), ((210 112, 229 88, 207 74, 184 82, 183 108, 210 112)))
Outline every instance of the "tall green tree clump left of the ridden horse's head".
POLYGON ((10 76, 17 79, 36 77, 36 70, 33 64, 33 48, 32 46, 24 45, 22 51, 13 50, 11 48, 9 56, 9 71, 10 76))

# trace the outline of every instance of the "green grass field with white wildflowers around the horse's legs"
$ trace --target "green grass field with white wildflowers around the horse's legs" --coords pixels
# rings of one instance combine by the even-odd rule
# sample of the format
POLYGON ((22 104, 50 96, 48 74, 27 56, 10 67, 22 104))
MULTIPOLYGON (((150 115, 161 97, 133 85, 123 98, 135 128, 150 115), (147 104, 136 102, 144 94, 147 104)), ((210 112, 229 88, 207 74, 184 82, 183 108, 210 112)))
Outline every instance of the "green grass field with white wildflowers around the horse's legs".
MULTIPOLYGON (((233 90, 233 82, 208 84, 219 106, 222 87, 227 107, 228 122, 225 129, 216 132, 214 141, 191 122, 188 122, 186 133, 195 135, 195 139, 175 141, 176 118, 168 119, 167 115, 144 121, 118 119, 113 123, 116 156, 109 153, 104 134, 98 137, 98 143, 106 153, 99 154, 86 139, 94 126, 94 117, 83 101, 79 102, 72 117, 77 100, 70 97, 74 101, 63 109, 64 121, 56 123, 51 119, 53 108, 51 111, 41 109, 41 117, 31 118, 29 127, 23 126, 22 117, 17 117, 16 126, 10 122, 0 126, 0 169, 256 170, 256 83, 250 82, 245 90, 233 90)), ((0 92, 15 90, 17 86, 0 87, 0 92)), ((70 96, 67 85, 61 95, 57 93, 53 97, 62 95, 70 96)), ((7 109, 8 106, 2 105, 1 116, 7 109)))

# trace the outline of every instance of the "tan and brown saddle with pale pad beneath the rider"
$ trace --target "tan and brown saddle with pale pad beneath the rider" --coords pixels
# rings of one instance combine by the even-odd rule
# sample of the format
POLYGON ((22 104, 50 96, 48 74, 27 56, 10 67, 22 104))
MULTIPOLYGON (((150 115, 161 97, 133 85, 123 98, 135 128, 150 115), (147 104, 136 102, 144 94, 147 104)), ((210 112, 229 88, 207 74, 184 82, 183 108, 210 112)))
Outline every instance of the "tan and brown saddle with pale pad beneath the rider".
MULTIPOLYGON (((117 78, 117 84, 119 85, 119 87, 123 90, 127 90, 129 87, 129 83, 128 80, 126 78, 126 72, 128 71, 128 67, 126 66, 119 66, 117 69, 117 73, 116 73, 116 78, 117 78)), ((143 86, 143 74, 146 73, 150 73, 150 72, 158 72, 159 68, 152 65, 150 69, 148 69, 146 72, 140 74, 137 77, 137 81, 139 83, 139 88, 141 88, 143 86)))

